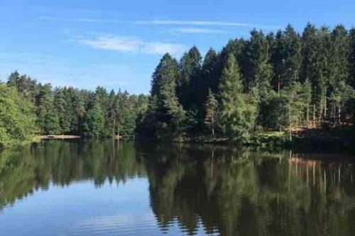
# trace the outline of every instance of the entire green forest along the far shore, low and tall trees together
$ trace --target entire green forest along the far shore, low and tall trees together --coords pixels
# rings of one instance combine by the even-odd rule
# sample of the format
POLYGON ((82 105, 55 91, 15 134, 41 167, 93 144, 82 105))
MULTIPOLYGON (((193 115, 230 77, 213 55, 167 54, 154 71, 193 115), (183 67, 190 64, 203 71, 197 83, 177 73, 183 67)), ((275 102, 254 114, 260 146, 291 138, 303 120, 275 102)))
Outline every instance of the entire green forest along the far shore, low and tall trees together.
POLYGON ((252 30, 202 58, 163 55, 150 95, 53 88, 13 72, 0 84, 0 145, 33 135, 234 140, 278 131, 350 127, 355 111, 355 28, 308 23, 252 30))

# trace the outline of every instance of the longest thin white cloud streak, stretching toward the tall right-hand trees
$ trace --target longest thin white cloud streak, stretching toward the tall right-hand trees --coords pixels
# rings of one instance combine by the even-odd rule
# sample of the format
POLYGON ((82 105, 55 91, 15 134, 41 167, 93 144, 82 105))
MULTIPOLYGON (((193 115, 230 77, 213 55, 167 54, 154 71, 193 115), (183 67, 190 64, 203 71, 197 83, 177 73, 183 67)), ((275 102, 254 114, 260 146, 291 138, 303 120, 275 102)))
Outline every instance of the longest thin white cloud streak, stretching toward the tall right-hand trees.
POLYGON ((281 26, 259 25, 253 23, 239 23, 226 21, 136 21, 137 24, 148 25, 175 25, 175 26, 239 26, 248 28, 272 28, 278 29, 281 26))

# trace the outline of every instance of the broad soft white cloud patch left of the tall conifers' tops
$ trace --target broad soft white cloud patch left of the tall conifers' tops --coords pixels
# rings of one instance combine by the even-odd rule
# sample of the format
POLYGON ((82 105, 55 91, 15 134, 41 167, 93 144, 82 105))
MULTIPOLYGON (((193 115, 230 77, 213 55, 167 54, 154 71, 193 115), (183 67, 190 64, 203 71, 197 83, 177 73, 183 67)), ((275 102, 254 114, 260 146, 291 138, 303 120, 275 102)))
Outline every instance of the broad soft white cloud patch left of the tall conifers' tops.
POLYGON ((119 35, 101 35, 96 38, 77 38, 77 42, 95 49, 115 50, 119 52, 140 52, 146 54, 163 55, 169 52, 179 55, 186 50, 186 46, 177 43, 145 42, 136 37, 119 35))

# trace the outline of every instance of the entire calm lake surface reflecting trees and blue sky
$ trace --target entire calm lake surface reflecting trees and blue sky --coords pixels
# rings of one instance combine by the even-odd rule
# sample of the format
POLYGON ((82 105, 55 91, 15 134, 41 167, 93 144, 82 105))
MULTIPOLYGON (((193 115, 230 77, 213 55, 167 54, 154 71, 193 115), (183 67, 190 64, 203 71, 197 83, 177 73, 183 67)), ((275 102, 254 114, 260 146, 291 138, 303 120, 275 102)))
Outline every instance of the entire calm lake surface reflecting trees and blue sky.
POLYGON ((0 235, 354 235, 355 157, 131 142, 0 154, 0 235))

